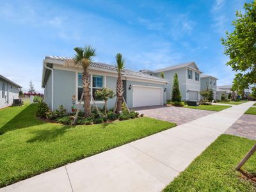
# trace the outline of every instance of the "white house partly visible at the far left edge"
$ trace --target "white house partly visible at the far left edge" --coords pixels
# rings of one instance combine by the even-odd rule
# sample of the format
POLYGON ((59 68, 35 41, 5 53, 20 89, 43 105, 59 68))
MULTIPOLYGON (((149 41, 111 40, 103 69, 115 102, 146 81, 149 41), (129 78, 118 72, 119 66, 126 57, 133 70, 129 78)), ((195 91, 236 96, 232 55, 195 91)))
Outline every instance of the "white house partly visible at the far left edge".
POLYGON ((21 86, 0 75, 0 109, 12 106, 13 99, 19 99, 21 86))

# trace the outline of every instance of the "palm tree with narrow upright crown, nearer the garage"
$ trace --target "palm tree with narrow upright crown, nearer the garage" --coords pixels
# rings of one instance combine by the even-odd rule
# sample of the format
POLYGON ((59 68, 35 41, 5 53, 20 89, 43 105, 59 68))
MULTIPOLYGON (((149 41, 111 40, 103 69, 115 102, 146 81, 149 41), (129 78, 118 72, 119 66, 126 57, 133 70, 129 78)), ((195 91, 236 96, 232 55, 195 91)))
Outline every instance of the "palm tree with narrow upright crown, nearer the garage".
POLYGON ((116 54, 116 70, 117 70, 117 80, 116 80, 116 111, 119 113, 119 111, 122 111, 122 103, 123 103, 123 93, 124 93, 124 87, 123 87, 123 81, 121 77, 121 72, 124 69, 124 60, 122 59, 122 54, 118 53, 116 54))

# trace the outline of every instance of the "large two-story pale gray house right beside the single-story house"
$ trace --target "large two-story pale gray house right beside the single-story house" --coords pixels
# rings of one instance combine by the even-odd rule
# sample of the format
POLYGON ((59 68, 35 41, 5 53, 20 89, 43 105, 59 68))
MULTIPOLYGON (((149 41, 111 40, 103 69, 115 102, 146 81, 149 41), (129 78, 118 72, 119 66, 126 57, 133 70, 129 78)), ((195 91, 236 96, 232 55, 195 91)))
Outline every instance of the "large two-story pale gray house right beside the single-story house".
POLYGON ((144 69, 140 70, 140 72, 157 77, 161 77, 161 72, 163 72, 164 79, 170 80, 170 83, 166 86, 167 99, 172 99, 173 76, 177 73, 182 100, 200 100, 200 74, 202 74, 202 72, 195 62, 173 65, 154 71, 144 69))

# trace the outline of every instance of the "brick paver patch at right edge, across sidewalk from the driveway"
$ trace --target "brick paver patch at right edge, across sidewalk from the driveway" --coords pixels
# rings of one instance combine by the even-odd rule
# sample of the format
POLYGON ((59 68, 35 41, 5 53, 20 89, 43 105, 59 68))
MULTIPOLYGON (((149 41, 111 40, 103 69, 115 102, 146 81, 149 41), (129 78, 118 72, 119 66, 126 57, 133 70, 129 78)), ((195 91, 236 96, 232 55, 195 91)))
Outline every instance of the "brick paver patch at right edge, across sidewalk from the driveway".
POLYGON ((242 115, 225 133, 256 140, 256 115, 242 115))

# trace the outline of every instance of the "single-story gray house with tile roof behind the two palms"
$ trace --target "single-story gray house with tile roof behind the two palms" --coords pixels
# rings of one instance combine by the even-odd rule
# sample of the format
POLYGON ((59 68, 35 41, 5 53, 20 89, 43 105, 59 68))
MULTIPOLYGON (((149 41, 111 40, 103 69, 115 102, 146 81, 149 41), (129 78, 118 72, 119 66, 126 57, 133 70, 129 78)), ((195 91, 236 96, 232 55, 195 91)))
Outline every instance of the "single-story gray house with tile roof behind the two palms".
MULTIPOLYGON (((42 87, 44 88, 44 100, 52 110, 63 105, 70 111, 72 95, 76 95, 77 104, 81 98, 83 92, 83 68, 65 65, 66 61, 71 59, 46 56, 43 61, 42 87)), ((95 97, 95 92, 104 87, 112 88, 115 91, 116 67, 104 63, 92 63, 88 71, 92 74, 91 93, 93 99, 99 107, 102 107, 104 102, 95 97)), ((166 103, 166 88, 169 86, 170 81, 127 69, 122 71, 122 79, 124 83, 124 98, 129 108, 163 105, 166 103)), ((169 95, 168 98, 170 98, 169 95)), ((114 108, 115 101, 116 97, 109 99, 108 108, 114 108)), ((91 103, 93 104, 93 102, 91 103)))

